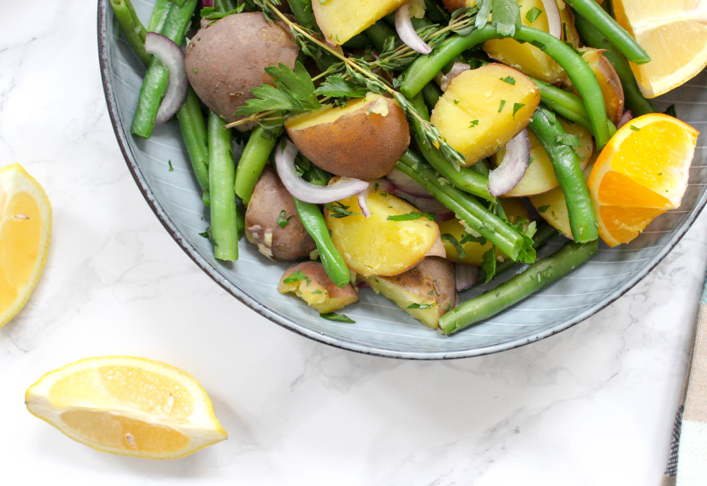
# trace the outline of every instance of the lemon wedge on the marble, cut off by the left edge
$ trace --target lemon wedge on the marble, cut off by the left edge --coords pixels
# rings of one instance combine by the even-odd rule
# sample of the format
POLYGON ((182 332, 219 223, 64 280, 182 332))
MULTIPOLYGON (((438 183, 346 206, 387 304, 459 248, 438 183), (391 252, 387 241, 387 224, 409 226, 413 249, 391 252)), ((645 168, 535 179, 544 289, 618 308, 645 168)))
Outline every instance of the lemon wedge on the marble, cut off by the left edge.
POLYGON ((25 305, 47 261, 52 206, 21 165, 0 169, 0 327, 25 305))

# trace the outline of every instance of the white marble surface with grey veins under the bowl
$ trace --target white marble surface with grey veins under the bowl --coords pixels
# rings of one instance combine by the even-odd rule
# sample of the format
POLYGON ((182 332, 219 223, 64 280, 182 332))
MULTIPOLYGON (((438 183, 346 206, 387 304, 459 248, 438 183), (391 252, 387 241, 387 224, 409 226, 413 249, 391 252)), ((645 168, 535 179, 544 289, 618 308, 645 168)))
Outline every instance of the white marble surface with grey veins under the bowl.
POLYGON ((0 330, 2 484, 658 484, 707 214, 627 295, 539 343, 450 362, 330 348, 227 295, 163 230, 110 126, 95 5, 1 5, 0 166, 21 163, 54 208, 40 285, 0 330), (45 372, 111 354, 194 374, 228 441, 141 461, 88 449, 25 409, 45 372))

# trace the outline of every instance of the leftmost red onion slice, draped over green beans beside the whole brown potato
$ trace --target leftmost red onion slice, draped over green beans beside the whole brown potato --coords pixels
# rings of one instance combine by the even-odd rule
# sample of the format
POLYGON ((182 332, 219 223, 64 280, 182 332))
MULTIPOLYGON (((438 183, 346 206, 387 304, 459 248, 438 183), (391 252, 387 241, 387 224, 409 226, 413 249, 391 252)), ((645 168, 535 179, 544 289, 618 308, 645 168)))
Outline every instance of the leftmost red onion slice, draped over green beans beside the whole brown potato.
POLYGON ((155 120, 155 124, 159 125, 172 118, 182 107, 184 100, 187 99, 189 82, 184 67, 184 52, 169 37, 157 32, 147 32, 145 50, 148 54, 153 54, 160 59, 170 73, 167 93, 165 93, 155 120))

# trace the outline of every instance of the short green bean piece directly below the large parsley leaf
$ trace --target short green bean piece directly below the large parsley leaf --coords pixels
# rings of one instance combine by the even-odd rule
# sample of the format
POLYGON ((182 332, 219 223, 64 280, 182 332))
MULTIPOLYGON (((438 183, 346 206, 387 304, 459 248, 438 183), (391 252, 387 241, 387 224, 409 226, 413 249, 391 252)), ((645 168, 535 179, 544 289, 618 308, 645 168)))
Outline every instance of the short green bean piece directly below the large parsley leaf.
POLYGON ((250 138, 245 144, 243 154, 240 155, 238 161, 238 168, 235 171, 235 194, 245 204, 250 201, 255 184, 258 182, 281 133, 281 125, 267 129, 258 125, 250 133, 250 138))

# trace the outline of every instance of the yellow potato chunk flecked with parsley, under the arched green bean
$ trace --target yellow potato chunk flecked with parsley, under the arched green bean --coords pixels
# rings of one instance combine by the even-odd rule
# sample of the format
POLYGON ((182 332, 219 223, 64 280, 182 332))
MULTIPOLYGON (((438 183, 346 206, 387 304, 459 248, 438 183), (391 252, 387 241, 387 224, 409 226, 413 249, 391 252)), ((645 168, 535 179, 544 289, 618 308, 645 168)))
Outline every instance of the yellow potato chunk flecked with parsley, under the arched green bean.
POLYGON ((539 102, 537 86, 527 76, 503 64, 486 64, 452 79, 431 121, 464 155, 464 165, 474 165, 524 129, 539 102))

